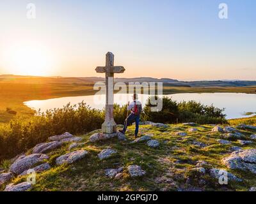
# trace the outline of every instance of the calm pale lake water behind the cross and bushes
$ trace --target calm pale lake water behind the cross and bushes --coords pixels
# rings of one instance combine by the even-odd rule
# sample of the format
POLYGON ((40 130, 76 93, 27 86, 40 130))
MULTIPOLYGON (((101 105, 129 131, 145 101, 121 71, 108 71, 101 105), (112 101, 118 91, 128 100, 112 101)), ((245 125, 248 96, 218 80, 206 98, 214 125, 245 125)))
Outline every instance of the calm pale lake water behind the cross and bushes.
MULTIPOLYGON (((163 95, 162 95, 163 96, 163 95)), ((218 108, 225 108, 225 114, 227 119, 235 119, 240 117, 246 117, 244 112, 256 112, 256 94, 243 94, 243 93, 183 93, 183 94, 168 94, 168 96, 176 101, 189 101, 195 100, 203 103, 204 105, 211 105, 218 108)), ((139 99, 142 105, 147 103, 148 95, 139 94, 139 99)), ((161 96, 160 96, 161 97, 161 96)), ((131 101, 131 94, 115 94, 115 103, 119 105, 125 105, 127 101, 131 101)), ((67 103, 75 105, 84 101, 92 108, 101 109, 105 105, 105 95, 93 95, 93 96, 74 96, 64 98, 54 98, 47 100, 35 100, 26 101, 25 105, 35 110, 41 110, 45 112, 51 108, 62 108, 67 103)), ((250 116, 247 116, 250 117, 250 116)))

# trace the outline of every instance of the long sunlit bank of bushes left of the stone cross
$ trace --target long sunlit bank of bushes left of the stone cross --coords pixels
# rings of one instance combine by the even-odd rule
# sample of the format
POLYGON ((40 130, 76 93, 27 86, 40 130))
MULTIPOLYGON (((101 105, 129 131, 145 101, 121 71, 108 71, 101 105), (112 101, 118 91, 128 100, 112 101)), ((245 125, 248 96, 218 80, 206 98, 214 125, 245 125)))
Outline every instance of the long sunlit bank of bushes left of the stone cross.
POLYGON ((83 134, 101 128, 104 114, 86 106, 86 103, 55 108, 31 119, 22 117, 0 126, 0 159, 10 158, 36 144, 45 142, 49 136, 66 131, 83 134))

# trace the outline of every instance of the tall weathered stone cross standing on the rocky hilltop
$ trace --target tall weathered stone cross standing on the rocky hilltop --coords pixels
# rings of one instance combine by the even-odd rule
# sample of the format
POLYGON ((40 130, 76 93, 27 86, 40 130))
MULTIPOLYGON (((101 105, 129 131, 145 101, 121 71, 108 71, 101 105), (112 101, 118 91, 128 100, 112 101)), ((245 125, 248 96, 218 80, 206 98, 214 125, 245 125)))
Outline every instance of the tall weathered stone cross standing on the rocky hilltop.
POLYGON ((106 66, 98 66, 97 73, 106 73, 106 113, 105 121, 102 124, 102 132, 112 134, 116 132, 116 123, 113 117, 114 101, 114 73, 124 73, 123 66, 114 66, 114 55, 111 52, 106 54, 106 66))

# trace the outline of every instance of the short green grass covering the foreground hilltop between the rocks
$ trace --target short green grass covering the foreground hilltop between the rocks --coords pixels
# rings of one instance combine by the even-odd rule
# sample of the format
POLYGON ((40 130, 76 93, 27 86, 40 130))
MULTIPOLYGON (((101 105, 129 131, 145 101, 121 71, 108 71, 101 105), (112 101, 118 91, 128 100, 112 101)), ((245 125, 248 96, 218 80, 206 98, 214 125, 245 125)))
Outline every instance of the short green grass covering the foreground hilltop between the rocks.
MULTIPOLYGON (((205 166, 209 168, 226 169, 221 164, 221 159, 230 154, 232 145, 242 147, 238 142, 232 141, 231 145, 221 145, 218 139, 223 139, 220 133, 211 133, 212 126, 196 126, 196 132, 189 132, 191 127, 182 124, 168 125, 168 128, 156 128, 152 126, 140 126, 140 135, 151 135, 161 143, 157 149, 151 149, 146 142, 130 143, 133 140, 134 126, 127 131, 129 141, 120 142, 111 139, 104 142, 90 143, 88 138, 92 133, 80 135, 83 138, 83 146, 76 149, 88 150, 88 156, 77 163, 56 166, 56 157, 68 151, 68 145, 54 150, 49 154, 51 170, 36 175, 36 184, 32 191, 177 191, 189 187, 200 187, 204 191, 248 191, 256 185, 256 177, 248 171, 228 170, 243 182, 228 182, 228 185, 218 184, 218 180, 212 179, 209 173, 197 175, 191 171, 197 161, 207 161, 205 166), (176 135, 178 132, 186 132, 187 136, 176 135), (200 148, 193 142, 202 142, 207 147, 200 148), (97 154, 102 149, 111 147, 117 150, 117 154, 109 159, 100 161, 97 154), (137 164, 147 171, 141 178, 132 179, 127 172, 127 166, 137 164), (107 168, 124 167, 121 179, 111 179, 104 175, 107 168), (205 184, 202 184, 202 180, 205 184), (189 181, 189 182, 188 182, 189 181)), ((95 133, 97 131, 94 131, 95 133)), ((250 131, 240 131, 245 135, 244 139, 250 140, 250 131)), ((243 146, 244 149, 255 149, 255 142, 243 146)), ((76 150, 74 149, 74 150, 76 150)), ((6 164, 8 164, 6 162, 6 164)), ((26 181, 26 177, 17 177, 14 183, 26 181)), ((4 186, 1 187, 2 189, 4 186)))

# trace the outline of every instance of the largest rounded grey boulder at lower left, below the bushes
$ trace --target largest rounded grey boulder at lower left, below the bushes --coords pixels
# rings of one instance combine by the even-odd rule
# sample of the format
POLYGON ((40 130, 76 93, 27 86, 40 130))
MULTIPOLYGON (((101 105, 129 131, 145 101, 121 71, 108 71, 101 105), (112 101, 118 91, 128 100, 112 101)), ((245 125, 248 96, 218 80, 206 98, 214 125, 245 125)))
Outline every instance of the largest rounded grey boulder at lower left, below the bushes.
POLYGON ((20 156, 10 167, 10 171, 15 174, 20 174, 30 168, 33 168, 35 164, 49 159, 45 154, 30 154, 29 156, 20 156))

